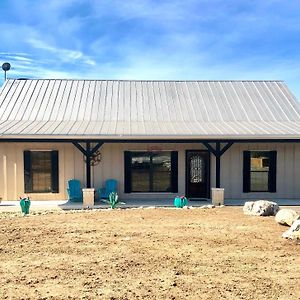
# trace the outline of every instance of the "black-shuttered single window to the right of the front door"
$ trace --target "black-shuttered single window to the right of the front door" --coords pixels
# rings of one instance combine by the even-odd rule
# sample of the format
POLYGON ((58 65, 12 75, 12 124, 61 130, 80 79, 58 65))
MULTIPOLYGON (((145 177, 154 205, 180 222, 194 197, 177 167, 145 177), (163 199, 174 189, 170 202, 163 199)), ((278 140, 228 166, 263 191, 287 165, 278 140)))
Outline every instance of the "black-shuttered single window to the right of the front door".
POLYGON ((276 192, 276 151, 244 151, 244 193, 276 192))

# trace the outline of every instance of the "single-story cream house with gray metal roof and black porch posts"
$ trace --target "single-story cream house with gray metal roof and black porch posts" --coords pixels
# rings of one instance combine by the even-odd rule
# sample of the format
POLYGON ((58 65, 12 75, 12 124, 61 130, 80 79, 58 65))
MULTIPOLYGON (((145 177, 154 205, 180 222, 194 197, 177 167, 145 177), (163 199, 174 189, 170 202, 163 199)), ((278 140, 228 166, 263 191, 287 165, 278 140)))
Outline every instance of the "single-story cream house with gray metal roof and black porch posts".
POLYGON ((0 198, 300 198, 300 104, 281 81, 7 80, 0 198))

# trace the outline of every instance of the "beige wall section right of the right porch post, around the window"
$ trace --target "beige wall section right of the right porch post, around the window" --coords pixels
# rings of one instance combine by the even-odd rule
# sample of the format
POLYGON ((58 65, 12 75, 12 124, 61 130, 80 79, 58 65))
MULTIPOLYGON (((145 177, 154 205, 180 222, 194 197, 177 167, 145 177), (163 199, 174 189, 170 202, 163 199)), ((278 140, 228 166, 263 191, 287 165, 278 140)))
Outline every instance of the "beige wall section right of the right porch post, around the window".
POLYGON ((300 199, 300 144, 234 144, 221 159, 221 185, 230 199, 300 199), (243 193, 243 151, 277 151, 276 193, 243 193))

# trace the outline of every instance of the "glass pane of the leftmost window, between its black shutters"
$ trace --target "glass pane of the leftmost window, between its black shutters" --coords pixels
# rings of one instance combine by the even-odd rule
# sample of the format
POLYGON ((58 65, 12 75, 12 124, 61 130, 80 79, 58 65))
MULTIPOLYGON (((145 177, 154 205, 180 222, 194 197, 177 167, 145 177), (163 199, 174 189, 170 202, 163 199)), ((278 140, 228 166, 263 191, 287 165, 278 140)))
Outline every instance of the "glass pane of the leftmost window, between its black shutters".
POLYGON ((51 152, 31 152, 32 191, 51 192, 51 152))

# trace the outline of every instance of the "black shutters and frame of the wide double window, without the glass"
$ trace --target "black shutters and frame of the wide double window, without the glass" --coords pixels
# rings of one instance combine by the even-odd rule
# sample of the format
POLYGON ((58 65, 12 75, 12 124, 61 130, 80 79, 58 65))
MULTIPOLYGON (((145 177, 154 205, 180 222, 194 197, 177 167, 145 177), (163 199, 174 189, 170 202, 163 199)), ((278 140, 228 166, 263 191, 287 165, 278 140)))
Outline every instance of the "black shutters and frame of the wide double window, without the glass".
MULTIPOLYGON (((153 174, 152 174, 153 175, 153 174)), ((152 178, 153 183, 153 178, 152 178)), ((178 192, 178 151, 125 151, 124 152, 124 192, 125 193, 177 193, 178 192), (132 190, 132 156, 136 153, 153 155, 157 153, 170 152, 171 153, 171 190, 170 191, 154 191, 153 186, 151 190, 151 172, 149 176, 149 191, 133 191, 132 190)))

